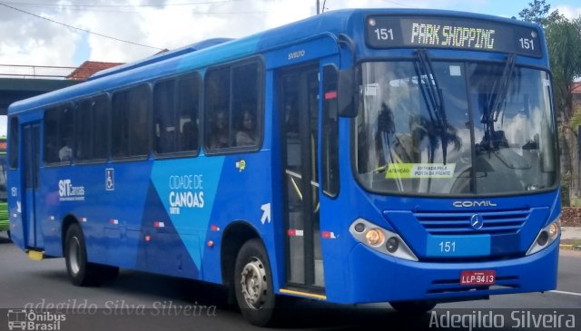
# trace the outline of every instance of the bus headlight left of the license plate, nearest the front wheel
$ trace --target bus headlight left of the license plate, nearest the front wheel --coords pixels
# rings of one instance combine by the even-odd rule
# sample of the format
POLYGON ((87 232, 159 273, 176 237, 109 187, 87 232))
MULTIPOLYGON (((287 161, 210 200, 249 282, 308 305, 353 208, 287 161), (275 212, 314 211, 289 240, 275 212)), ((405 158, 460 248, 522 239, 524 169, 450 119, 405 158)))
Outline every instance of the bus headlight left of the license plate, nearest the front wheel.
POLYGON ((369 248, 396 258, 418 260, 399 234, 379 228, 365 219, 355 220, 349 230, 355 239, 369 248))

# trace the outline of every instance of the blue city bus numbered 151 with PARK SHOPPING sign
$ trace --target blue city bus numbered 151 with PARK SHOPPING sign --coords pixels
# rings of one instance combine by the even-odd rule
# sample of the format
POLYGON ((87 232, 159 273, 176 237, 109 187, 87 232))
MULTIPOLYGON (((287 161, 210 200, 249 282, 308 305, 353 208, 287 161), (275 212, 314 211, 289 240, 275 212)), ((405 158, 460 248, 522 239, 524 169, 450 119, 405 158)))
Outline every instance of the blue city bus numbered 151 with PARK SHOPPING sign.
POLYGON ((542 29, 355 9, 213 39, 11 105, 12 238, 74 285, 130 268, 401 311, 556 288, 542 29))

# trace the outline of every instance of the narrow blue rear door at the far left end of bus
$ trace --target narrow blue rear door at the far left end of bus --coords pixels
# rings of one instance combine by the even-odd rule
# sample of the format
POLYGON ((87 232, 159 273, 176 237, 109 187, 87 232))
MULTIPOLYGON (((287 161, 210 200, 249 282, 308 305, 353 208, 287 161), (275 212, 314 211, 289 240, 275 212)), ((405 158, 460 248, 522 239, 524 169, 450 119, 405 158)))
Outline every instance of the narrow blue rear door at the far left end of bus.
POLYGON ((22 128, 23 177, 25 183, 22 201, 25 245, 27 248, 42 248, 43 235, 40 222, 36 219, 38 170, 40 158, 40 124, 25 124, 22 128))

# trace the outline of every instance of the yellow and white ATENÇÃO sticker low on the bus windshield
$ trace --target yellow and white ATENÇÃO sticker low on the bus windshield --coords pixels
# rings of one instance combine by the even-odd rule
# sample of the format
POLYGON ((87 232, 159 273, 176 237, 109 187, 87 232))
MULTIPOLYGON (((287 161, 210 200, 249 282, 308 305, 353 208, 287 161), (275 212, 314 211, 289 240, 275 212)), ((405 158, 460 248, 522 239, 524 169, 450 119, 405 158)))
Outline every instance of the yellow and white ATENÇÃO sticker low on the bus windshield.
POLYGON ((456 163, 389 163, 386 179, 452 178, 456 163))

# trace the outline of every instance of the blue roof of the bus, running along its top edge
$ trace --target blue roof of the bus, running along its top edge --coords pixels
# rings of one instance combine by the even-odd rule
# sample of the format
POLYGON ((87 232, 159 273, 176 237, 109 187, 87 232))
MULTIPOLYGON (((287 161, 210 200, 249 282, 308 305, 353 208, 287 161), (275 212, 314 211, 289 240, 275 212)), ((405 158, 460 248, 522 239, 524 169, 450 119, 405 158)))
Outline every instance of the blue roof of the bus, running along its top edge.
MULTIPOLYGON (((225 63, 251 54, 260 54, 307 40, 316 35, 349 34, 354 30, 354 24, 363 24, 366 15, 434 15, 446 17, 463 17, 504 24, 517 24, 534 28, 542 34, 537 24, 530 24, 515 19, 507 19, 492 15, 480 15, 465 12, 434 10, 434 9, 343 9, 330 11, 323 15, 282 25, 258 34, 251 34, 240 39, 226 38, 209 39, 180 49, 158 54, 143 60, 127 63, 121 67, 111 68, 95 73, 85 83, 79 83, 54 92, 48 92, 20 102, 15 102, 8 108, 8 114, 25 112, 48 105, 65 102, 79 97, 89 97, 99 92, 109 92, 121 86, 148 82, 152 78, 183 73, 208 65, 225 63)), ((356 45, 359 46, 360 45, 356 45)))

